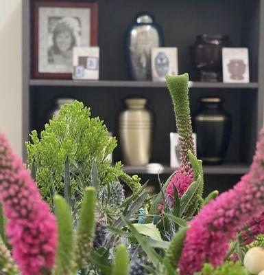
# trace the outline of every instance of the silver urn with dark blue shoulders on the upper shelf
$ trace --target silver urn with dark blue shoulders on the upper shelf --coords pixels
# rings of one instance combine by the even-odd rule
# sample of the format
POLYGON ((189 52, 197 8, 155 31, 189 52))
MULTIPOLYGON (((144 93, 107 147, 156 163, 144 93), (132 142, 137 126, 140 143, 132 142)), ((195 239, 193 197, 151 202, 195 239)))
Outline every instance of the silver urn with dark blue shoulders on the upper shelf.
POLYGON ((163 45, 163 32, 154 17, 142 12, 125 32, 125 62, 132 80, 152 80, 151 50, 163 45))

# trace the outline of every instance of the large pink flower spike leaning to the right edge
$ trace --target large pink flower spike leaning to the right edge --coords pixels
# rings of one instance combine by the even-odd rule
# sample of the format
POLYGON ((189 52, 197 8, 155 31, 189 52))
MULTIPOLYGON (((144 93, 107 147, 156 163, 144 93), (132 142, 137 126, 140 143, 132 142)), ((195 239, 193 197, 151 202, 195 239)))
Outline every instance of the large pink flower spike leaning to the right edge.
POLYGON ((180 258, 180 274, 193 274, 208 261, 221 265, 230 239, 264 210, 264 132, 256 146, 250 172, 231 190, 208 203, 189 225, 180 258))

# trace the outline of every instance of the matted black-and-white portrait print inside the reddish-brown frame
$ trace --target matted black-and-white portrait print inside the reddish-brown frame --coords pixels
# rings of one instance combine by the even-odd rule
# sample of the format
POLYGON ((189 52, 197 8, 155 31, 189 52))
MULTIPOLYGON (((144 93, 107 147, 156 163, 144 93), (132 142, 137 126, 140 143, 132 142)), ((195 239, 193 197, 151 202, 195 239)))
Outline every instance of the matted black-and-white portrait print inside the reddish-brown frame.
POLYGON ((93 43, 91 12, 90 7, 38 8, 38 74, 61 77, 73 72, 73 47, 93 43))

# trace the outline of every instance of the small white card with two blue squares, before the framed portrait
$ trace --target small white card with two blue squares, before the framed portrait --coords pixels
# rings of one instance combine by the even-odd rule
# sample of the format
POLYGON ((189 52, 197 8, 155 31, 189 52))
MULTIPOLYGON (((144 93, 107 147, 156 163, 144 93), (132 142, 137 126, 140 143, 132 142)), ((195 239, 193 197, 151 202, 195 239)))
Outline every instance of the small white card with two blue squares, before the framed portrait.
POLYGON ((99 79, 99 47, 73 48, 73 79, 99 79))

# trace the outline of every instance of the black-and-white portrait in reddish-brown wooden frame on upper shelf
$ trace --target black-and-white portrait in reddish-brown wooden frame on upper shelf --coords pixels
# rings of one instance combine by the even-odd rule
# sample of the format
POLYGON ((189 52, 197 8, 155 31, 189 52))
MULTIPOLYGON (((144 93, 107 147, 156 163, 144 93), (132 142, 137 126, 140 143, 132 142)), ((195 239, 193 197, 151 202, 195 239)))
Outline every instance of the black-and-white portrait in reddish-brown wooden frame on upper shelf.
POLYGON ((36 1, 33 78, 71 78, 73 48, 97 45, 97 1, 36 1))

